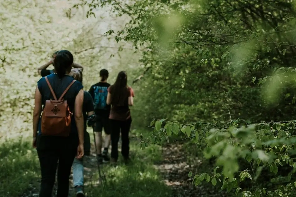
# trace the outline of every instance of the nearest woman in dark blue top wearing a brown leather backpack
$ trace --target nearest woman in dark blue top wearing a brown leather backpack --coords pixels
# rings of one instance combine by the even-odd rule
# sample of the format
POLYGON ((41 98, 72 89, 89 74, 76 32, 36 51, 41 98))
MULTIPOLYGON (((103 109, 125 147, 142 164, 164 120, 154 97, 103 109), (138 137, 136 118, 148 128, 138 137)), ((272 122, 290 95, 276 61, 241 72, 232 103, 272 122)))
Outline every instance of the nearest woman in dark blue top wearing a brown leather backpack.
POLYGON ((40 197, 52 196, 57 168, 57 197, 68 196, 73 160, 84 153, 84 92, 82 84, 68 76, 72 64, 73 55, 59 51, 54 58, 56 73, 42 77, 35 90, 33 146, 41 168, 40 197))

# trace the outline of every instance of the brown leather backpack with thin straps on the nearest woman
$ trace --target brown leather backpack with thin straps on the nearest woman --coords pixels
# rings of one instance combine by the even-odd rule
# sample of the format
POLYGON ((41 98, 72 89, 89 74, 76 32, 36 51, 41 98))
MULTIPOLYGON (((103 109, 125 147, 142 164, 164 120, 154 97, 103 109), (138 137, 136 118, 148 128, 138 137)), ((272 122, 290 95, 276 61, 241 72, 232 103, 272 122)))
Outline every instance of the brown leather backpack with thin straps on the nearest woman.
POLYGON ((51 94, 54 96, 54 100, 50 99, 45 101, 45 107, 41 115, 41 133, 42 135, 67 137, 70 135, 71 117, 73 113, 70 112, 67 101, 63 99, 63 96, 76 80, 73 80, 72 83, 68 85, 59 99, 57 99, 54 94, 54 90, 47 77, 45 77, 45 80, 51 94))

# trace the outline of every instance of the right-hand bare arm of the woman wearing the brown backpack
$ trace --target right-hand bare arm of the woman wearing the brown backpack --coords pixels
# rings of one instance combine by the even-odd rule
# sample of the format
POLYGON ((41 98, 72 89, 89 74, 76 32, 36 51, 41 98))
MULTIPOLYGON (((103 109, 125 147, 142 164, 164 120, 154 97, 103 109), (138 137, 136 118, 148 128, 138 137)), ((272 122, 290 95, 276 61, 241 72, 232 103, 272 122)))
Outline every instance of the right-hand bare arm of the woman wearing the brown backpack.
POLYGON ((84 97, 84 92, 83 92, 83 89, 81 89, 75 98, 75 105, 74 105, 74 117, 75 117, 76 126, 78 130, 79 144, 84 144, 84 122, 83 122, 84 120, 83 120, 83 113, 82 113, 83 97, 84 97))

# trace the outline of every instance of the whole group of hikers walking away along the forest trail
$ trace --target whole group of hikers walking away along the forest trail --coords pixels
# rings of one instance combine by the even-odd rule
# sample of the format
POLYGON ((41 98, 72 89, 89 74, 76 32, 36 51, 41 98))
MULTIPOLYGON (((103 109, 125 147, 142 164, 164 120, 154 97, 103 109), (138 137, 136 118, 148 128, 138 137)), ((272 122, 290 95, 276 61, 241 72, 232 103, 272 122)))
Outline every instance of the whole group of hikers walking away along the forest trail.
POLYGON ((100 71, 100 81, 84 91, 83 67, 74 62, 68 50, 55 52, 38 73, 42 78, 35 90, 33 146, 41 168, 39 196, 52 196, 57 171, 56 195, 67 197, 72 167, 73 187, 76 195, 83 197, 83 158, 90 155, 91 149, 87 125, 93 127, 98 164, 117 162, 120 133, 121 154, 129 162, 129 106, 134 103, 134 91, 127 85, 125 71, 118 73, 113 85, 107 83, 106 69, 100 71), (51 64, 54 69, 48 70, 51 64))

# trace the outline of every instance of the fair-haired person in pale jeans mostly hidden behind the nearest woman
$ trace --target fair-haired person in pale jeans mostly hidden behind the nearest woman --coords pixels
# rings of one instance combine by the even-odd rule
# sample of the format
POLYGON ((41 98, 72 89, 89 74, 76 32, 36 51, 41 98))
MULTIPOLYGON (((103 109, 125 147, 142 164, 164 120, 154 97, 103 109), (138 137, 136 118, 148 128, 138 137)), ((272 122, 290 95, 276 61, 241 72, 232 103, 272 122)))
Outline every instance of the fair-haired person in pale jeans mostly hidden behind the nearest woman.
MULTIPOLYGON (((82 72, 79 71, 77 68, 73 68, 72 71, 69 73, 69 76, 72 76, 75 80, 78 80, 82 83, 82 72)), ((94 105, 92 96, 87 92, 84 91, 83 97, 83 119, 84 119, 84 156, 90 155, 91 149, 91 141, 89 133, 87 132, 87 118, 94 115, 94 105)), ((78 159, 74 158, 72 169, 73 169, 73 186, 75 188, 76 196, 77 197, 84 197, 83 191, 83 176, 84 176, 84 168, 83 168, 83 158, 78 159)))

